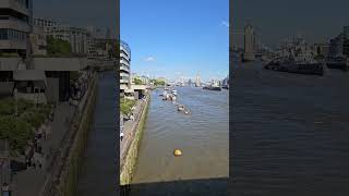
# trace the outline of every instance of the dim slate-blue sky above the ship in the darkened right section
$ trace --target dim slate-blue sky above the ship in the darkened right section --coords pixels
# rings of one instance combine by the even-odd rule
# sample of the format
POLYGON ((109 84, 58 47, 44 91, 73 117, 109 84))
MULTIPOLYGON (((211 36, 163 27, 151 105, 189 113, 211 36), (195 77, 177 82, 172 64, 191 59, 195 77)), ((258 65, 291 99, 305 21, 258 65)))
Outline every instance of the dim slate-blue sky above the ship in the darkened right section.
POLYGON ((342 26, 349 25, 349 13, 346 11, 349 2, 345 0, 233 1, 234 44, 243 46, 243 34, 238 32, 248 22, 252 23, 261 41, 268 47, 276 47, 297 35, 304 37, 308 42, 326 42, 342 32, 342 26), (245 10, 249 12, 243 12, 245 10), (337 12, 324 14, 329 10, 337 12))

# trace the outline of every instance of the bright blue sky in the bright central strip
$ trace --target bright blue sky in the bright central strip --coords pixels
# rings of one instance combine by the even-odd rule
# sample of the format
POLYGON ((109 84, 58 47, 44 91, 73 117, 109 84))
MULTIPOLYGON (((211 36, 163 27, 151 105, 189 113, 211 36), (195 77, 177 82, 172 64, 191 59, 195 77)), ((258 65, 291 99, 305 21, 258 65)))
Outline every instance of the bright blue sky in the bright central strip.
POLYGON ((229 0, 120 0, 120 35, 137 74, 226 77, 228 23, 229 0))

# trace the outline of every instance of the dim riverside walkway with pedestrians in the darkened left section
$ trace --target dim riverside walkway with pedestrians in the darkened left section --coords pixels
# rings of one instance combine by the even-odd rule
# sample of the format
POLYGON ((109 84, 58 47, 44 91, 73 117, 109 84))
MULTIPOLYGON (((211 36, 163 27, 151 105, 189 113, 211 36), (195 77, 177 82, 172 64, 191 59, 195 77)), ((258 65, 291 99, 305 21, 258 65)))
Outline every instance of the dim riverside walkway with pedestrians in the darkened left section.
MULTIPOLYGON (((91 87, 96 83, 93 75, 89 87, 76 106, 68 102, 59 103, 55 109, 53 121, 49 122, 48 138, 40 142, 44 155, 43 167, 35 169, 20 167, 12 176, 10 189, 15 196, 46 196, 52 195, 55 183, 59 176, 64 158, 69 154, 71 138, 74 136, 72 125, 79 120, 80 112, 85 108, 87 98, 91 96, 91 87), (76 119, 77 118, 77 119, 76 119)), ((79 123, 79 122, 77 122, 79 123)), ((21 158, 17 160, 23 162, 21 158)))

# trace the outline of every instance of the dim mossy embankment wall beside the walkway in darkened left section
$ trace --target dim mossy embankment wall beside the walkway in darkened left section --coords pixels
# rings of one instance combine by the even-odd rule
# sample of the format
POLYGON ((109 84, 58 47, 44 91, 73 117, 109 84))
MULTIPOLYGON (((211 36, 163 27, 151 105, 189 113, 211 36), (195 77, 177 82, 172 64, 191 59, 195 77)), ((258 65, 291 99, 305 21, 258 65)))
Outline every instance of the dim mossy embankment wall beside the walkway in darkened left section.
POLYGON ((97 88, 98 75, 95 74, 86 95, 76 107, 70 131, 62 139, 60 154, 55 158, 55 166, 40 196, 75 195, 80 167, 93 125, 97 88))

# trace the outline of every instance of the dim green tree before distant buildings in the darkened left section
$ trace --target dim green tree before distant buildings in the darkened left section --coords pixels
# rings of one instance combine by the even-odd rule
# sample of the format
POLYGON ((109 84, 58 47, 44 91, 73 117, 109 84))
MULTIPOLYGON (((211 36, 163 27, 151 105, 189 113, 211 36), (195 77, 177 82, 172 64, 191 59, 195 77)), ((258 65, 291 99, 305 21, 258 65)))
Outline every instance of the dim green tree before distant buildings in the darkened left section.
POLYGON ((71 56, 72 47, 69 41, 55 38, 53 36, 47 37, 47 53, 49 56, 71 56))

